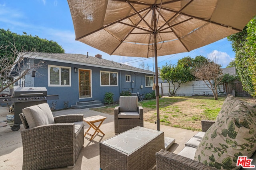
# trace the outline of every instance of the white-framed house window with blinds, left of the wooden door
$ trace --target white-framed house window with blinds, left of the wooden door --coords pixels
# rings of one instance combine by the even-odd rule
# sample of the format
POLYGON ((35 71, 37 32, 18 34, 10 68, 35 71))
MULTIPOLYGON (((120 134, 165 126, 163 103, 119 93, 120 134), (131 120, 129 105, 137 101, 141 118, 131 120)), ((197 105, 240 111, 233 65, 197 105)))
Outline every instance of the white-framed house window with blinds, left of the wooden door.
POLYGON ((71 68, 48 65, 48 86, 71 86, 71 68))

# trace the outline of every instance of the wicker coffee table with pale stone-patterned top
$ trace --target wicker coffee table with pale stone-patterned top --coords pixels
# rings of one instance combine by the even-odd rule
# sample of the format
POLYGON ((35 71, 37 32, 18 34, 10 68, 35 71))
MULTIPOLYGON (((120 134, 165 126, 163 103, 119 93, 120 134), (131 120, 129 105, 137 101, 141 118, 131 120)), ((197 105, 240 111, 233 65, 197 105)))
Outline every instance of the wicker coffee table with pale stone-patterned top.
POLYGON ((134 127, 100 142, 102 170, 148 170, 164 149, 164 132, 134 127))

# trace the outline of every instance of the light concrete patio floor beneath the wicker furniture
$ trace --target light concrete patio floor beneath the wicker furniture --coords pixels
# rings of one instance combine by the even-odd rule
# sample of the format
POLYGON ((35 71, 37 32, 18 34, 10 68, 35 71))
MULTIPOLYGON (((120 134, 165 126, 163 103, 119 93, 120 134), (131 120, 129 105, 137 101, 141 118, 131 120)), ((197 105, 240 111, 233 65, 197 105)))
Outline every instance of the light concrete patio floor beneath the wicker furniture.
MULTIPOLYGON (((0 106, 0 121, 6 121, 8 114, 7 107, 0 106)), ((65 114, 83 114, 84 117, 93 115, 102 115, 107 119, 102 123, 100 129, 105 133, 103 136, 98 133, 92 141, 89 141, 89 136, 85 137, 84 149, 82 149, 74 168, 68 170, 99 170, 100 169, 100 156, 99 156, 99 142, 104 141, 114 134, 114 115, 108 115, 90 109, 67 109, 62 111, 54 111, 54 116, 65 114)), ((156 124, 144 121, 144 127, 156 130, 156 124)), ((86 131, 89 125, 84 123, 84 130, 86 131)), ((12 131, 9 125, 5 127, 0 126, 0 169, 1 170, 21 170, 23 161, 23 150, 20 131, 24 129, 21 125, 19 131, 12 131)), ((184 144, 188 139, 194 136, 197 132, 180 129, 170 126, 160 125, 160 130, 164 131, 165 137, 176 139, 175 143, 168 149, 170 152, 178 153, 183 149, 184 144)), ((55 168, 54 170, 62 170, 64 168, 55 168)), ((152 167, 151 169, 156 169, 152 167)))

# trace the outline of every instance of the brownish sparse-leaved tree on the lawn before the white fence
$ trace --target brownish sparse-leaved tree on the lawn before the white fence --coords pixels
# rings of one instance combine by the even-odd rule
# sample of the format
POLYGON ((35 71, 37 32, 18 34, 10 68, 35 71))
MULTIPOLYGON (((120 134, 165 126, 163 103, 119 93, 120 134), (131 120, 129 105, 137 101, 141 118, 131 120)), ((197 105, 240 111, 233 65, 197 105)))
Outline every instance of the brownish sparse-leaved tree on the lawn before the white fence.
POLYGON ((214 100, 218 100, 218 84, 222 80, 222 70, 221 65, 215 63, 216 57, 212 53, 212 61, 206 61, 199 65, 196 65, 192 73, 197 80, 202 80, 208 88, 212 90, 214 100))

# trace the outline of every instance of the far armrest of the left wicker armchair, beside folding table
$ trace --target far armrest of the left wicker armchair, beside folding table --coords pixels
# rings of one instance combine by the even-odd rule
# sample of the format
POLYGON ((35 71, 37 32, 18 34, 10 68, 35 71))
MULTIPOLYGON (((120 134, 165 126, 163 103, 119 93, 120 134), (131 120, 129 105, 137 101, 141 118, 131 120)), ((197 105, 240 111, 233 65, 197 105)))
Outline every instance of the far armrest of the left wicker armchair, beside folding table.
POLYGON ((84 115, 61 115, 54 117, 54 123, 73 123, 76 121, 84 121, 84 115))

